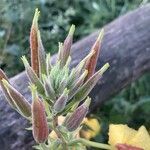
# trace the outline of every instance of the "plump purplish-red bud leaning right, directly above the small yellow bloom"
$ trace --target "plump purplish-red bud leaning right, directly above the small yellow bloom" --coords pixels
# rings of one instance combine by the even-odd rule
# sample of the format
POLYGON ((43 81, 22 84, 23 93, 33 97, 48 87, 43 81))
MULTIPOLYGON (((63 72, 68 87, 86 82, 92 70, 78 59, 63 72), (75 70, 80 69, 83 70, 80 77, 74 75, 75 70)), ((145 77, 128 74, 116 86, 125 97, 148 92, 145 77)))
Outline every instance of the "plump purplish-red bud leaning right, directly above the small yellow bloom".
POLYGON ((68 119, 65 120, 66 122, 64 122, 64 125, 68 131, 71 132, 80 127, 80 124, 89 110, 90 102, 91 99, 88 97, 86 101, 80 105, 68 119))

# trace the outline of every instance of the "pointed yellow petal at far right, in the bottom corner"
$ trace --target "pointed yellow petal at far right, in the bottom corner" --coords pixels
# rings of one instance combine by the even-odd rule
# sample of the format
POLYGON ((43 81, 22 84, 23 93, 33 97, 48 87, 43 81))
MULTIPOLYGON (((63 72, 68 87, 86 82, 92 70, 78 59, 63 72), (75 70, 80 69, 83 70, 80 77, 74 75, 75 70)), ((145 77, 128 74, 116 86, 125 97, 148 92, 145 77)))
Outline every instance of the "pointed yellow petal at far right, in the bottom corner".
POLYGON ((129 141, 129 144, 144 150, 150 150, 150 135, 144 126, 139 128, 135 137, 129 141))

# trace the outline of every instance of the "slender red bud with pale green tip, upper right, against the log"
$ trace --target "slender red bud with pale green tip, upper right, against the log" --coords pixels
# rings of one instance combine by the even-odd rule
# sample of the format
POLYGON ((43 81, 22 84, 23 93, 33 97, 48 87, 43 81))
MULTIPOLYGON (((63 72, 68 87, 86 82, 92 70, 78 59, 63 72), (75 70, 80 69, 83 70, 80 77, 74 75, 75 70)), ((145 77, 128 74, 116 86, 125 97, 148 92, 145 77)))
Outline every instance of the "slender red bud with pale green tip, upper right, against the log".
POLYGON ((96 68, 96 64, 97 64, 97 60, 99 57, 99 53, 100 53, 100 46, 101 46, 101 41, 104 35, 104 30, 102 29, 96 42, 94 43, 91 52, 94 52, 93 56, 90 58, 90 60, 88 61, 88 63, 86 64, 85 69, 88 70, 88 75, 85 79, 88 80, 95 72, 95 68, 96 68))

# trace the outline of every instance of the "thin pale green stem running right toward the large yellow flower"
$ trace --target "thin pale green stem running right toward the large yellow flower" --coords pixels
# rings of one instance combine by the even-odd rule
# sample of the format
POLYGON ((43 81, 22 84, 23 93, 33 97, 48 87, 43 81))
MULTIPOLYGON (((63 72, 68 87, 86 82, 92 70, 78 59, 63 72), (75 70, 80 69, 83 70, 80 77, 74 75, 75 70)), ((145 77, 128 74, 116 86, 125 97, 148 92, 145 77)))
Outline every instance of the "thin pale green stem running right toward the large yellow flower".
POLYGON ((97 143, 97 142, 92 142, 83 138, 79 138, 77 140, 71 141, 69 145, 74 145, 75 143, 82 143, 85 146, 91 146, 91 147, 96 147, 96 148, 101 148, 101 149, 107 149, 111 150, 111 147, 108 144, 103 144, 103 143, 97 143))

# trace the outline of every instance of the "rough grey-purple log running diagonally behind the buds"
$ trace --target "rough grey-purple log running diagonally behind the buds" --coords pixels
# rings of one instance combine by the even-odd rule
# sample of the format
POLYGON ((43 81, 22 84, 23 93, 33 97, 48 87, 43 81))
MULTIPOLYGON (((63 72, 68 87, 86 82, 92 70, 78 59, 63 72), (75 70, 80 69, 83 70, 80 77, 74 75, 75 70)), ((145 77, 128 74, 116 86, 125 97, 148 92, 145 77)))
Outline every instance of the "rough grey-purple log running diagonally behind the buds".
MULTIPOLYGON (((150 69, 149 14, 150 5, 146 5, 104 27, 105 37, 97 68, 106 62, 111 67, 91 93, 91 111, 150 69)), ((74 44, 73 66, 88 53, 97 35, 97 32, 93 33, 74 44)), ((53 56, 53 60, 55 57, 53 56)), ((11 82, 30 100, 28 79, 24 72, 13 77, 11 82)), ((31 150, 34 143, 31 132, 24 130, 29 125, 4 99, 0 92, 0 149, 31 150)))

